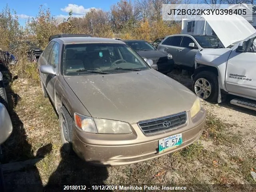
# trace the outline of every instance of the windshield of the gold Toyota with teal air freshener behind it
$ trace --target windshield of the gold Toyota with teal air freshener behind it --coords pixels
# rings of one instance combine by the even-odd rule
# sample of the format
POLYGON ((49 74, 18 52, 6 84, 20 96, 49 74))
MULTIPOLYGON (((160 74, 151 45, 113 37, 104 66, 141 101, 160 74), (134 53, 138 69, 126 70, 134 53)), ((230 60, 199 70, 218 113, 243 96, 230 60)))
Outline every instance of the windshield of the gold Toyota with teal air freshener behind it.
POLYGON ((69 44, 64 48, 64 73, 108 74, 149 69, 126 44, 69 44))

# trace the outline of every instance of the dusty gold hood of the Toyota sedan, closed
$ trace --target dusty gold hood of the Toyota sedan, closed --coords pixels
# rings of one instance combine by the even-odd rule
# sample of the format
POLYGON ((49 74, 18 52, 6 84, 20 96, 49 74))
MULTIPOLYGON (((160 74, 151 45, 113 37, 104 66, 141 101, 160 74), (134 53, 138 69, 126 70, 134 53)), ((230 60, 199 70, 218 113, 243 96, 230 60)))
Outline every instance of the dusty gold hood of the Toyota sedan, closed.
POLYGON ((196 96, 156 70, 65 76, 92 117, 137 123, 188 111, 196 96))

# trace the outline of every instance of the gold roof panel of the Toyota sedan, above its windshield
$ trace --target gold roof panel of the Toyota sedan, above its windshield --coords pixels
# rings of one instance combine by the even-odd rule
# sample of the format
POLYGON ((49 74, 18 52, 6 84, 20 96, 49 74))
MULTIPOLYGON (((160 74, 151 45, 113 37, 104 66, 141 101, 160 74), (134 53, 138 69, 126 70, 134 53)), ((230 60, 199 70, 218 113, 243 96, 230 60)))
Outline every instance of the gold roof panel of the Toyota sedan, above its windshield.
POLYGON ((99 37, 62 37, 57 38, 60 41, 62 41, 64 44, 82 44, 82 43, 121 43, 124 44, 124 42, 115 40, 115 39, 109 39, 109 38, 99 38, 99 37))

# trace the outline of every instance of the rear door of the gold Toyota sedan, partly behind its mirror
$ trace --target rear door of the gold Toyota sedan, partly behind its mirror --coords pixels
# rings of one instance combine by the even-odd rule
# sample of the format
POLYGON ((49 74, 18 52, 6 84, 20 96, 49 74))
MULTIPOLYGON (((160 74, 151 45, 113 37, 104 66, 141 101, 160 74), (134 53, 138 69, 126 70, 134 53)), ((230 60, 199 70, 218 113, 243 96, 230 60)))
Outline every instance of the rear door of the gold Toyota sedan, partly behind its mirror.
MULTIPOLYGON (((46 46, 44 52, 42 53, 42 56, 40 56, 39 60, 38 60, 38 69, 40 68, 41 65, 48 65, 48 60, 50 57, 50 53, 52 50, 53 45, 55 44, 54 41, 50 42, 48 44, 48 46, 46 46)), ((44 87, 46 87, 46 77, 47 75, 44 73, 39 73, 40 74, 40 80, 42 81, 42 84, 44 85, 44 87)))

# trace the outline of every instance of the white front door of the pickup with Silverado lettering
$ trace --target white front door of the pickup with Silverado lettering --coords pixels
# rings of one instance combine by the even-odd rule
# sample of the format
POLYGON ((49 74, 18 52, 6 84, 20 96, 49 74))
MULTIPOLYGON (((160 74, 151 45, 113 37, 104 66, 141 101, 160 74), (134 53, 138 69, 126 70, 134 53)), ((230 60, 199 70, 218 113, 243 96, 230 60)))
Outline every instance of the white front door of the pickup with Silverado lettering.
MULTIPOLYGON (((248 44, 251 43, 250 40, 248 44)), ((232 50, 226 69, 226 89, 231 94, 256 100, 256 50, 248 46, 247 52, 232 50)))

